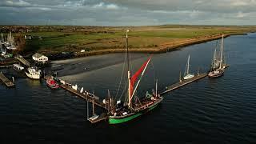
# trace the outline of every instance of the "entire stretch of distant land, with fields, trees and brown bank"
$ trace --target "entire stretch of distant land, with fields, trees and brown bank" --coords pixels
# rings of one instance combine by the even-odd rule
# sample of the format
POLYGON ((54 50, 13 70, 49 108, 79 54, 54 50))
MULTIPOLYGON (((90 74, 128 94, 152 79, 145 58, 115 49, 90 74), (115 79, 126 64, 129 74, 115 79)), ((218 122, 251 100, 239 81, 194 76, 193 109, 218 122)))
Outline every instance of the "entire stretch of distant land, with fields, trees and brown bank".
POLYGON ((21 54, 72 52, 74 57, 82 57, 124 52, 127 29, 131 52, 162 53, 218 39, 222 34, 255 32, 256 26, 0 26, 0 33, 12 31, 21 43, 21 54))

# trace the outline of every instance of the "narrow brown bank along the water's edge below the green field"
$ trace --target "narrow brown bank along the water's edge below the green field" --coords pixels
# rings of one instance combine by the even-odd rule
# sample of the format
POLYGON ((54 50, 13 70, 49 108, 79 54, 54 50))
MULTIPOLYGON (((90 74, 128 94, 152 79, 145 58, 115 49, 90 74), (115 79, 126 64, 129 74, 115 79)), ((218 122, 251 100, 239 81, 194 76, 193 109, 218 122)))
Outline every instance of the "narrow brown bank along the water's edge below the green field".
MULTIPOLYGON (((224 38, 230 37, 232 35, 246 35, 247 33, 242 33, 242 34, 224 34, 224 38)), ((184 41, 180 42, 169 42, 166 44, 162 44, 160 46, 154 47, 154 48, 133 48, 130 49, 130 53, 146 53, 146 54, 161 54, 161 53, 166 53, 170 52, 173 50, 178 50, 180 48, 186 47, 186 46, 192 46, 204 42, 210 42, 214 41, 217 39, 222 38, 222 34, 215 34, 215 35, 210 35, 210 36, 205 36, 201 38, 190 38, 186 39, 184 41)), ((102 55, 102 54, 114 54, 114 53, 125 53, 126 49, 106 49, 106 50, 91 50, 87 52, 78 52, 74 54, 74 57, 72 58, 82 58, 82 57, 88 57, 88 56, 94 56, 94 55, 102 55)), ((64 59, 70 59, 70 58, 64 58, 64 59)))

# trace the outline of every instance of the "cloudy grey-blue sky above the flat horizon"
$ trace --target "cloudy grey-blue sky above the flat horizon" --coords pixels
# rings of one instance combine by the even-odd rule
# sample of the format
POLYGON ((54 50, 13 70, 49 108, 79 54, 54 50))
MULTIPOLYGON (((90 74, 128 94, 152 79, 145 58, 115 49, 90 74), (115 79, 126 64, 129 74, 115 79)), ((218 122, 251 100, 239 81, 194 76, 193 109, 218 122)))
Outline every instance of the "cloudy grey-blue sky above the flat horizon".
POLYGON ((255 25, 256 0, 0 0, 0 25, 255 25))

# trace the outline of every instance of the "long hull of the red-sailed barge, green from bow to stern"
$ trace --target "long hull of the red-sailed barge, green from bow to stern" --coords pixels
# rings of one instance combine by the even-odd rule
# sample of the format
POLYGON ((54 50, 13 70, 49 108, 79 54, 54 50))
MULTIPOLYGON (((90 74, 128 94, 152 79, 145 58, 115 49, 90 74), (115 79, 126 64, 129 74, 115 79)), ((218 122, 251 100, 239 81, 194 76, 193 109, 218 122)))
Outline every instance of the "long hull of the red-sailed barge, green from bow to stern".
MULTIPOLYGON (((162 100, 161 100, 162 101, 162 100)), ((161 102, 160 101, 160 102, 161 102)), ((134 114, 131 114, 125 118, 109 118, 109 123, 110 124, 118 124, 118 123, 123 123, 123 122, 128 122, 134 118, 138 118, 139 116, 141 116, 142 114, 146 114, 146 112, 150 111, 150 110, 153 110, 155 107, 157 107, 159 104, 159 102, 155 103, 154 105, 146 108, 145 110, 141 110, 141 111, 138 111, 134 114)))

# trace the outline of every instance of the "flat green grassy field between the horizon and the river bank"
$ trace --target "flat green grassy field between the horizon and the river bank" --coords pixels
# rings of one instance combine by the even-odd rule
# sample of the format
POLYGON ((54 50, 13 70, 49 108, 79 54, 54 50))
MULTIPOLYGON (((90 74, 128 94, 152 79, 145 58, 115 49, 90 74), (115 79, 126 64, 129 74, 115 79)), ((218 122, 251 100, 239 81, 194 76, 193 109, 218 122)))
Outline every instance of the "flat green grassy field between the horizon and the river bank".
POLYGON ((43 29, 38 32, 23 33, 42 37, 42 39, 27 40, 23 51, 51 54, 62 51, 121 50, 126 46, 126 29, 130 30, 130 50, 146 51, 160 50, 175 43, 216 34, 244 34, 255 31, 256 26, 76 26, 75 29, 72 29, 72 26, 64 26, 61 30, 51 28, 48 31, 43 29))

